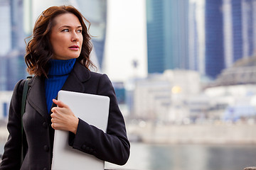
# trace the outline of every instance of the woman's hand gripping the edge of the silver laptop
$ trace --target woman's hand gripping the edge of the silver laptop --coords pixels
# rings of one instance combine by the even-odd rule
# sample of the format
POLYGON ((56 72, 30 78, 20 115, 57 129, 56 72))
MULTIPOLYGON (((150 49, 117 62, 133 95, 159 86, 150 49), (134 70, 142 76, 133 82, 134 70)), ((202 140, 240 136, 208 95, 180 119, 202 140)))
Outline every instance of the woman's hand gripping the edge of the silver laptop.
POLYGON ((78 118, 70 110, 68 105, 65 105, 62 101, 53 99, 53 103, 58 107, 53 107, 51 116, 52 127, 55 130, 67 130, 76 134, 78 130, 78 118))

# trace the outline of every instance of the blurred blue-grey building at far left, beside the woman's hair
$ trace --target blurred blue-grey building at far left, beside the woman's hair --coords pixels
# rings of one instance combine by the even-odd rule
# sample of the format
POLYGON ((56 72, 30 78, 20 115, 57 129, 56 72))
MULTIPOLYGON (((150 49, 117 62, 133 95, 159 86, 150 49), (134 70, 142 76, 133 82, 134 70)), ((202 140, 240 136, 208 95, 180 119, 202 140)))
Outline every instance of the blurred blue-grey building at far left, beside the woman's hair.
POLYGON ((26 77, 23 56, 23 0, 0 1, 0 90, 11 91, 26 77))

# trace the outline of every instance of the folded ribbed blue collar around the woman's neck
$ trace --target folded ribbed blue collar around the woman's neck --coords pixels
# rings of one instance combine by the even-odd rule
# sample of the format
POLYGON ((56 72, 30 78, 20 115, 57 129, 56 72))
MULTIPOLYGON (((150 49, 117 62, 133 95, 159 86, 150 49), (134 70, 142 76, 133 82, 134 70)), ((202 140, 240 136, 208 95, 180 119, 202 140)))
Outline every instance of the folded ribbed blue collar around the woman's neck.
POLYGON ((74 59, 70 60, 50 60, 50 70, 48 72, 48 76, 62 76, 65 74, 70 74, 73 66, 75 64, 74 59))

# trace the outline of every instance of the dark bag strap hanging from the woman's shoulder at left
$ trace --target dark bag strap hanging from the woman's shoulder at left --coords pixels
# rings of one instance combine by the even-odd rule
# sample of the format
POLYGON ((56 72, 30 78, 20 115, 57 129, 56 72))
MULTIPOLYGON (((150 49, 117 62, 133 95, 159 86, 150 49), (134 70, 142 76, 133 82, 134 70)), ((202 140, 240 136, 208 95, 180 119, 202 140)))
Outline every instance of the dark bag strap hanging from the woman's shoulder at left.
POLYGON ((22 117, 25 113, 25 107, 26 107, 26 98, 28 94, 28 81, 32 77, 27 77, 23 86, 23 93, 22 93, 22 99, 21 99, 21 165, 23 163, 24 155, 23 155, 23 122, 22 117))

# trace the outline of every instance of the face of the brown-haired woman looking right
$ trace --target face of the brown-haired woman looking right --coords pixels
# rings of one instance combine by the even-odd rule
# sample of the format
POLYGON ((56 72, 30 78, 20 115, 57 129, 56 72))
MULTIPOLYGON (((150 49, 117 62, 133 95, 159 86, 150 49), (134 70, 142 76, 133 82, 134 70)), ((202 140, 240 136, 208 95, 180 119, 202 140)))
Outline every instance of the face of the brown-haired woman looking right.
POLYGON ((53 59, 69 60, 78 58, 82 50, 82 25, 73 13, 63 13, 53 19, 50 44, 53 59))

